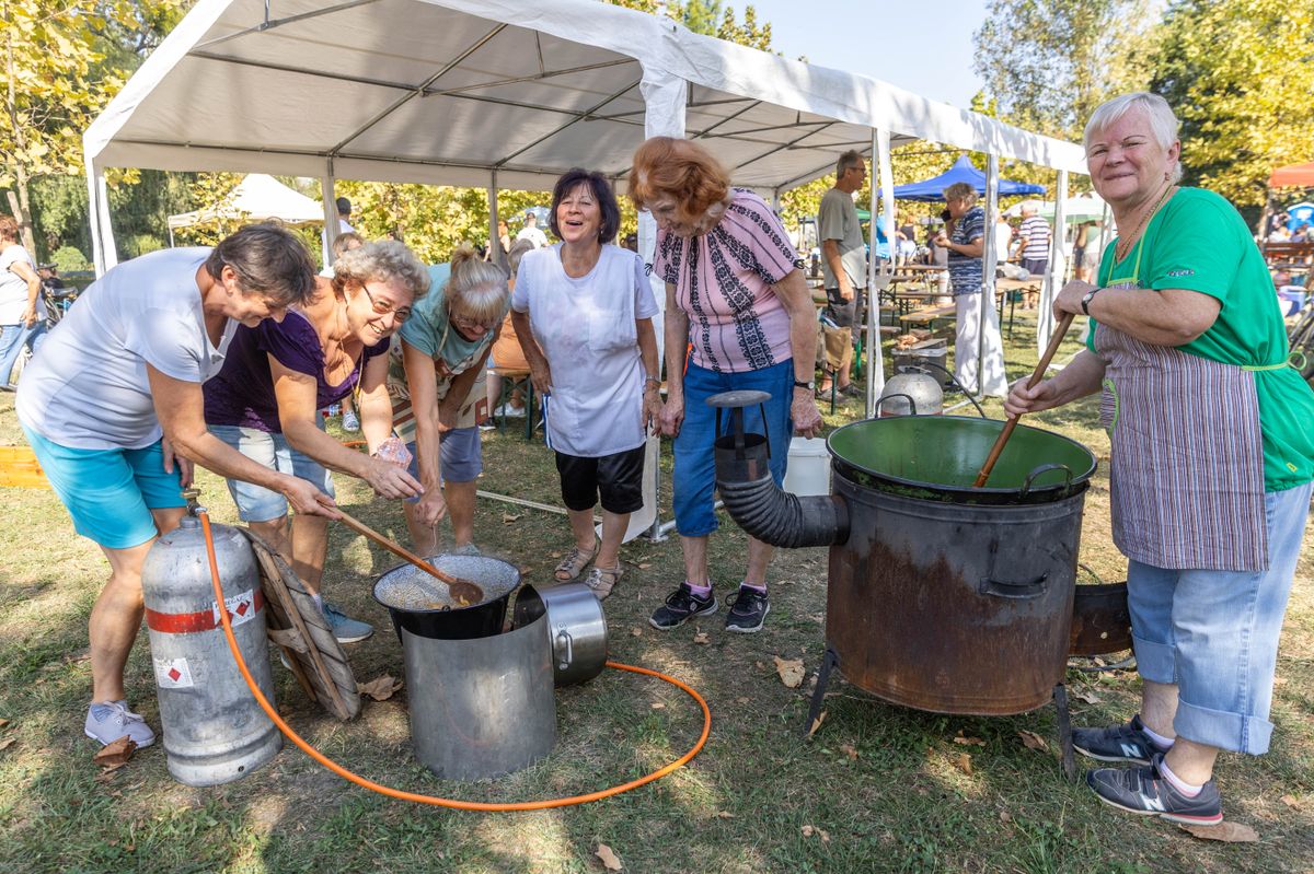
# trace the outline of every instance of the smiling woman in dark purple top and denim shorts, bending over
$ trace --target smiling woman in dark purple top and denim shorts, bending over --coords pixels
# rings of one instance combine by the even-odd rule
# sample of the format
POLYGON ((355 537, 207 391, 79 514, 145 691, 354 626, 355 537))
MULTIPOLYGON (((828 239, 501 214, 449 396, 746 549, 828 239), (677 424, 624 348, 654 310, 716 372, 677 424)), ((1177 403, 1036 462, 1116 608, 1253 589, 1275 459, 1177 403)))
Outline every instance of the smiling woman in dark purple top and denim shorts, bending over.
MULTIPOLYGON (((331 280, 318 277, 318 297, 283 322, 242 328, 219 374, 205 385, 210 432, 243 455, 332 495, 330 470, 364 479, 382 497, 411 497, 420 484, 405 465, 376 453, 393 423, 388 398, 388 344, 428 293, 428 273, 401 243, 369 243, 344 252, 331 280), (369 455, 323 430, 319 409, 359 392, 369 455), (327 468, 327 470, 326 470, 327 468)), ((283 495, 230 479, 238 514, 290 563, 343 643, 373 629, 319 597, 327 520, 298 513, 289 526, 283 495), (289 534, 290 528, 290 534, 289 534)))

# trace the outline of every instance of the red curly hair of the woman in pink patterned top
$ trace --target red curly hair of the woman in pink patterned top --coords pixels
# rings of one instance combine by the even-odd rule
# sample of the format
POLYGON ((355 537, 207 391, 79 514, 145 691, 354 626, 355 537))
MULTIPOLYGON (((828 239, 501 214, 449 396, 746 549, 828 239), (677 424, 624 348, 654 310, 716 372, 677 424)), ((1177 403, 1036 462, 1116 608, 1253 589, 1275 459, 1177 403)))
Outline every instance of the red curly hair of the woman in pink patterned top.
POLYGON ((689 139, 653 136, 635 152, 629 169, 629 199, 635 209, 668 196, 682 223, 694 224, 714 203, 725 199, 731 176, 711 152, 689 139))

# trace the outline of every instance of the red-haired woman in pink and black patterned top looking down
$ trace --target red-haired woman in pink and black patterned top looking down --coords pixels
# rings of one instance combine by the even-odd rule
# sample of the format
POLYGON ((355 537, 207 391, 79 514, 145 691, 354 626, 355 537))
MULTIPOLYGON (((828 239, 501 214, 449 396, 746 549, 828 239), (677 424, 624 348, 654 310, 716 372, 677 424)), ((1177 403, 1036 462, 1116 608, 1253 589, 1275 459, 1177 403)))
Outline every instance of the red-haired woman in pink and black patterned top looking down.
MULTIPOLYGON (((666 283, 661 430, 675 438, 673 503, 685 552, 685 581, 650 619, 666 630, 717 609, 707 576, 707 537, 716 530, 716 420, 706 400, 732 390, 771 395, 762 406, 765 423, 757 409, 746 409, 744 419, 753 430, 765 425, 779 484, 790 433, 812 437, 821 428, 813 395, 816 310, 802 261, 771 207, 752 192, 732 189, 729 175, 702 146, 669 136, 645 142, 635 152, 629 197, 657 222, 652 269, 666 283)), ((748 570, 725 617, 727 631, 762 627, 770 558, 770 546, 749 538, 748 570)))

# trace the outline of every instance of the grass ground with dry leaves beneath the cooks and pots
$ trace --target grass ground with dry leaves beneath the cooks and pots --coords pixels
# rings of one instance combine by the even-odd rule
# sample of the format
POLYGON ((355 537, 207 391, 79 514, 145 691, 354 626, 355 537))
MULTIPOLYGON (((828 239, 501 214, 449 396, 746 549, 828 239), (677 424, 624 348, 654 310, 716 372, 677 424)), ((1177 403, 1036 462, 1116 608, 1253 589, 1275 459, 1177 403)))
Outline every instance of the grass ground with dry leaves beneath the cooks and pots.
MULTIPOLYGON (((1008 370, 1035 362, 1034 322, 1018 314, 1008 370)), ((1059 361, 1076 350, 1064 344, 1059 361)), ((997 402, 987 404, 999 416, 997 402)), ((827 416, 861 415, 857 402, 827 416)), ((972 415, 970 408, 962 415, 972 415)), ((1035 416, 1088 445, 1101 468, 1087 496, 1081 560, 1122 579, 1109 541, 1108 441, 1087 402, 1035 416)), ((12 396, 0 395, 0 442, 21 442, 12 396)), ((669 472, 669 453, 664 465, 669 472)), ((489 434, 481 488, 557 504, 557 480, 540 444, 489 434)), ((664 480, 669 483, 669 476, 664 480)), ((222 483, 201 479, 217 521, 234 509, 222 483)), ((369 525, 403 537, 394 505, 339 478, 339 500, 369 525)), ((669 495, 665 499, 669 507, 669 495)), ((565 518, 480 501, 477 539, 547 583, 552 552, 568 545, 565 518), (519 516, 503 522, 503 514, 519 516)), ((742 572, 744 535, 723 517, 711 567, 728 591, 742 572)), ((1301 871, 1314 865, 1314 591, 1310 549, 1286 617, 1279 660, 1271 755, 1225 756, 1219 776, 1230 819, 1259 844, 1223 845, 1099 804, 1067 783, 1053 753, 1017 732, 1053 739, 1053 707, 1003 718, 943 717, 891 705, 834 680, 827 720, 802 738, 804 690, 784 688, 771 657, 820 664, 827 556, 782 551, 773 562, 773 613, 757 635, 732 636, 716 619, 669 634, 648 614, 681 579, 675 539, 623 550, 627 576, 607 601, 612 657, 692 684, 712 709, 703 753, 675 774, 608 801, 530 814, 473 814, 389 801, 352 786, 290 744, 246 780, 214 789, 173 782, 163 752, 141 752, 101 782, 81 736, 89 688, 87 617, 108 572, 99 550, 74 535, 47 491, 0 492, 0 870, 4 871, 599 871, 610 845, 628 871, 1301 871), (640 567, 646 566, 646 567, 640 567), (694 643, 704 630, 710 643, 694 643), (637 634, 635 634, 637 631, 637 634), (984 747, 953 741, 963 734, 984 747), (972 773, 959 769, 971 755, 972 773), (1288 797, 1294 804, 1280 801, 1288 797), (803 835, 803 827, 825 829, 803 835)), ((396 564, 347 529, 332 529, 325 588, 378 633, 350 647, 357 677, 402 676, 388 617, 369 596, 372 577, 396 564)), ((1125 718, 1134 675, 1070 673, 1099 703, 1074 702, 1081 723, 1125 718)), ((145 633, 129 663, 133 705, 158 727, 145 633)), ((305 701, 275 665, 276 696, 311 743, 380 782, 472 801, 527 801, 591 791, 679 756, 698 736, 696 706, 679 690, 628 673, 560 690, 557 745, 518 774, 476 783, 432 777, 410 753, 403 689, 367 701, 342 724, 305 701), (664 703, 653 709, 653 703, 664 703)))

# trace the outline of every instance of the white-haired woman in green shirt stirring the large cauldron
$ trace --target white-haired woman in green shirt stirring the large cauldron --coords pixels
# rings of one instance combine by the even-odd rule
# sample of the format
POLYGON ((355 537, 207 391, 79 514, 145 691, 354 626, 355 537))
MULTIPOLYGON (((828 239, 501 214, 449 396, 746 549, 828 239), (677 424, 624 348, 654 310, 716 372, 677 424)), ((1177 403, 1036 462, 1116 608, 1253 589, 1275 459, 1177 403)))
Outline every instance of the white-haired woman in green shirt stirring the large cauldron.
POLYGON ((1101 391, 1113 538, 1127 556, 1141 713, 1077 730, 1076 747, 1137 768, 1093 770, 1106 803, 1222 820, 1221 751, 1261 755, 1277 640, 1314 480, 1314 392, 1288 365, 1264 259, 1222 197, 1177 184, 1177 119, 1158 94, 1100 106, 1085 127, 1095 190, 1118 236, 1099 282, 1054 314, 1087 315, 1087 349, 1005 407, 1101 391))

